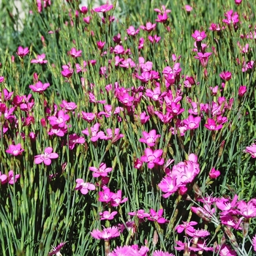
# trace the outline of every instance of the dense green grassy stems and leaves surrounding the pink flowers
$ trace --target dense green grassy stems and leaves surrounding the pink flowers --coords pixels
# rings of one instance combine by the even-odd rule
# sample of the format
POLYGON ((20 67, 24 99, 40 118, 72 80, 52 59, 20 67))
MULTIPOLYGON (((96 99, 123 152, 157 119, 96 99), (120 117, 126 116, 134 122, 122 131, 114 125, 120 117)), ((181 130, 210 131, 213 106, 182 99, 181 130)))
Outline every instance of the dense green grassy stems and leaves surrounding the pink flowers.
MULTIPOLYGON (((195 199, 194 190, 197 184, 203 197, 213 195, 233 198, 238 195, 239 200, 246 202, 256 197, 255 159, 244 152, 246 146, 251 145, 256 137, 255 68, 242 72, 242 64, 237 61, 242 62, 243 58, 244 61, 256 59, 255 39, 241 38, 242 34, 255 32, 255 4, 253 1, 243 1, 241 5, 236 6, 231 0, 211 1, 210 4, 205 4, 203 0, 115 1, 113 5, 116 9, 113 8, 104 14, 107 18, 109 15, 114 16, 115 21, 106 24, 101 21, 102 14, 90 12, 92 4, 89 4, 89 12, 86 15, 79 13, 76 17, 78 1, 53 1, 51 6, 43 8, 41 13, 37 11, 34 1, 23 1, 26 15, 23 28, 18 30, 18 15, 12 15, 13 3, 1 1, 0 76, 4 76, 4 82, 0 83, 1 102, 9 109, 14 106, 15 96, 32 94, 34 107, 29 111, 15 108, 12 113, 15 118, 12 121, 7 120, 4 112, 1 113, 0 171, 7 174, 9 170, 14 170, 16 174, 20 174, 20 178, 13 185, 1 185, 0 254, 48 255, 52 245, 67 241, 61 249, 62 255, 104 255, 104 241, 95 240, 90 232, 96 228, 102 229, 102 225, 108 227, 124 224, 131 218, 129 212, 138 209, 148 212, 151 208, 156 211, 164 208, 164 217, 169 222, 160 225, 149 221, 140 223, 138 218, 134 218, 137 232, 132 234, 125 230, 120 238, 111 241, 111 249, 124 244, 141 246, 146 240, 150 252, 155 248, 181 255, 183 252, 176 251, 174 246, 176 240, 184 241, 184 233, 178 234, 174 228, 182 221, 189 220, 197 221, 197 228, 208 229, 211 233, 208 241, 214 238, 209 246, 213 246, 215 241, 220 244, 225 234, 224 225, 222 228, 215 227, 211 222, 207 223, 192 214, 190 207, 193 203, 187 200, 187 195, 195 199), (160 9, 162 4, 171 12, 168 13, 167 23, 157 23, 156 29, 151 32, 153 36, 157 34, 161 37, 158 43, 152 44, 148 40, 148 32, 142 29, 135 37, 127 35, 129 26, 138 29, 148 21, 155 23, 157 12, 154 12, 154 9, 160 9), (193 7, 192 12, 184 10, 185 4, 193 7), (238 12, 238 29, 222 23, 228 10, 238 12), (86 24, 83 18, 89 15, 91 22, 86 24), (208 29, 211 23, 220 23, 220 26, 226 26, 226 29, 211 31, 208 29), (206 52, 213 53, 206 68, 195 59, 195 41, 191 36, 195 30, 206 31, 207 37, 203 43, 208 45, 206 52), (50 34, 49 31, 53 33, 50 34), (217 102, 218 97, 225 97, 227 104, 230 104, 230 99, 231 102, 233 100, 229 108, 219 104, 222 105, 221 110, 224 109, 222 116, 227 117, 222 129, 216 132, 206 129, 204 124, 207 118, 212 117, 212 113, 202 111, 200 126, 197 129, 185 132, 184 136, 181 136, 180 132, 172 135, 169 130, 175 127, 176 118, 163 124, 156 114, 151 115, 148 111, 148 106, 157 111, 165 110, 166 107, 164 104, 161 108, 158 101, 145 96, 146 89, 154 89, 154 83, 145 84, 138 80, 135 77, 135 68, 115 66, 115 54, 110 48, 116 46, 113 37, 118 33, 121 35, 121 45, 125 50, 129 48, 131 52, 124 58, 131 58, 135 64, 138 64, 139 57, 143 57, 145 62, 151 61, 153 69, 159 72, 160 78, 157 81, 162 92, 167 91, 163 69, 167 66, 173 67, 172 54, 181 56, 181 59, 176 61, 181 64, 181 78, 169 88, 173 95, 181 95, 179 103, 184 112, 178 118, 184 120, 189 116, 188 110, 192 108, 190 102, 197 102, 197 109, 200 110, 200 103, 212 105, 212 102, 217 102), (145 39, 143 49, 138 49, 140 37, 145 39), (97 48, 98 41, 105 42, 103 50, 97 48), (242 53, 238 42, 243 47, 248 43, 249 53, 242 53), (29 54, 23 58, 16 54, 20 45, 29 48, 29 54), (71 48, 82 50, 82 56, 78 59, 72 58, 67 54, 71 48), (31 59, 42 53, 45 53, 48 63, 31 64, 31 59), (97 60, 97 63, 87 65, 85 72, 75 72, 75 64, 83 65, 83 61, 90 60, 97 60), (61 75, 61 66, 68 63, 74 68, 74 72, 71 78, 64 78, 61 75), (105 75, 99 75, 101 67, 108 67, 105 75), (225 83, 225 88, 222 88, 223 80, 219 77, 222 71, 232 73, 232 78, 225 83), (50 87, 43 94, 37 94, 29 88, 36 83, 35 72, 42 83, 50 83, 50 87), (186 75, 193 76, 198 84, 186 88, 186 75), (120 88, 125 89, 144 86, 143 97, 138 100, 138 104, 132 104, 135 106, 134 110, 131 111, 121 104, 114 89, 109 92, 105 90, 105 86, 110 83, 114 85, 116 82, 120 88), (243 97, 238 97, 238 88, 241 85, 246 86, 247 91, 243 97), (217 95, 211 93, 210 87, 214 86, 219 86, 219 90, 222 90, 218 91, 217 95), (4 89, 14 91, 11 99, 4 99, 4 89), (110 117, 103 115, 91 124, 81 118, 82 111, 105 111, 103 104, 90 102, 89 91, 97 100, 105 100, 105 104, 112 106, 110 117), (58 106, 58 110, 61 109, 59 105, 62 100, 75 102, 77 108, 69 112, 70 120, 64 137, 50 136, 47 118, 53 116, 54 105, 58 106), (119 115, 113 113, 117 107, 124 108, 119 115), (138 118, 143 111, 151 116, 146 124, 141 124, 138 118), (28 116, 34 117, 34 123, 25 125, 24 118, 28 116), (42 118, 46 119, 45 127, 42 126, 42 118), (110 140, 91 142, 89 136, 83 135, 82 130, 97 122, 103 132, 108 128, 119 128, 124 138, 115 143, 110 140), (5 133, 4 124, 9 128, 5 133), (187 185, 186 195, 181 196, 176 192, 166 199, 162 197, 157 185, 165 176, 163 166, 156 165, 150 170, 144 163, 140 169, 134 167, 135 159, 143 156, 147 148, 146 144, 139 141, 142 132, 149 132, 151 129, 156 129, 157 134, 161 135, 154 149, 163 150, 165 163, 168 159, 174 159, 174 164, 177 165, 178 162, 188 160, 189 154, 197 155, 200 173, 187 185), (29 137, 30 132, 36 134, 36 140, 29 137), (78 144, 70 150, 68 135, 73 133, 84 137, 86 143, 78 144), (12 143, 20 143, 24 149, 18 157, 6 153, 12 143), (59 154, 59 158, 53 159, 49 166, 35 165, 34 156, 42 154, 48 146, 59 154), (77 178, 83 178, 93 184, 102 182, 99 178, 93 178, 89 170, 89 167, 98 167, 101 162, 113 168, 108 175, 110 190, 117 192, 121 189, 122 196, 128 197, 127 202, 117 208, 99 202, 98 192, 102 191, 99 186, 87 195, 75 190, 77 178), (208 173, 212 167, 219 170, 221 175, 217 179, 209 180, 208 173), (50 181, 49 175, 55 177, 50 181), (99 212, 110 208, 112 211, 118 211, 115 219, 110 222, 100 221, 99 212), (157 230, 159 236, 155 247, 152 244, 154 230, 157 230)), ((138 93, 136 97, 139 97, 138 93)), ((217 210, 218 217, 219 212, 217 210)), ((250 219, 250 238, 255 235, 255 227, 255 220, 250 219)), ((246 248, 248 252, 251 246, 249 239, 243 241, 241 230, 233 230, 233 233, 238 245, 246 248)), ((232 245, 228 236, 226 238, 227 244, 232 245)), ((243 255, 241 252, 238 252, 238 255, 239 253, 243 255)), ((203 255, 213 255, 213 252, 204 252, 203 255)))

